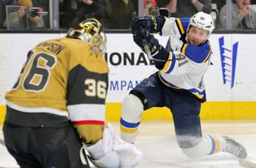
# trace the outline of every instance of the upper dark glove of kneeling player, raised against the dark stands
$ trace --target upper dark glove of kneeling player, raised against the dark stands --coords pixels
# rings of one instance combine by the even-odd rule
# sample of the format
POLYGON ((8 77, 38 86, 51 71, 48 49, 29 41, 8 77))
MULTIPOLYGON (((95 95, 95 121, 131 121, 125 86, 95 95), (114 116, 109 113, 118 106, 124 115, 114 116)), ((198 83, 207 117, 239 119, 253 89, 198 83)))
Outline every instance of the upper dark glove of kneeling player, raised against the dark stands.
POLYGON ((150 33, 159 31, 157 27, 157 19, 154 16, 134 18, 132 20, 132 34, 135 35, 140 28, 149 31, 150 33))

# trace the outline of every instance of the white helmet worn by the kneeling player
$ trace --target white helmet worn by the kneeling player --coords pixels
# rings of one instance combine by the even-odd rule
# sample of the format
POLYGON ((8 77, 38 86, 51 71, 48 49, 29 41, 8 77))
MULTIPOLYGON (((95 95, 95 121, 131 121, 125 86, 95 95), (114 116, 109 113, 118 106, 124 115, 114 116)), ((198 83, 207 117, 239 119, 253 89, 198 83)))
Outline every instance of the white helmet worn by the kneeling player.
POLYGON ((197 12, 190 18, 187 33, 190 26, 195 26, 197 28, 209 31, 209 36, 208 36, 209 38, 214 29, 214 22, 210 14, 207 14, 201 11, 201 12, 197 12))

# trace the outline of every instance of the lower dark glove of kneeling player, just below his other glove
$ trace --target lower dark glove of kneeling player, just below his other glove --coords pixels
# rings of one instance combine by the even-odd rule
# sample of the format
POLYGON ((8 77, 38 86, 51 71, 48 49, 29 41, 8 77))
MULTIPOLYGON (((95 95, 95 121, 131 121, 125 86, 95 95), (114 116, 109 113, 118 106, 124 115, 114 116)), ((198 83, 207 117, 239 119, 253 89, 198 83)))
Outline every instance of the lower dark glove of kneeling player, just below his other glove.
POLYGON ((142 39, 145 39, 147 41, 148 47, 152 55, 161 49, 161 45, 159 45, 158 40, 154 37, 154 35, 151 35, 145 29, 140 28, 137 33, 133 35, 133 40, 142 49, 142 51, 145 52, 145 46, 142 39))

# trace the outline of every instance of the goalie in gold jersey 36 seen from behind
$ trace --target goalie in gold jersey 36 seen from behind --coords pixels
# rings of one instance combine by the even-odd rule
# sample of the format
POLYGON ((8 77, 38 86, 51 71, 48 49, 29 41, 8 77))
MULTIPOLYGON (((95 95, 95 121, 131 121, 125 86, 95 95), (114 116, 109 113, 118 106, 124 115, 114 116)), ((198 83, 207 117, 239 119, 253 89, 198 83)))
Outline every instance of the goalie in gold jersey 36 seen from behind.
POLYGON ((5 145, 23 167, 134 167, 141 153, 105 125, 106 37, 96 19, 43 41, 6 94, 5 145), (83 142, 83 145, 82 145, 83 142))

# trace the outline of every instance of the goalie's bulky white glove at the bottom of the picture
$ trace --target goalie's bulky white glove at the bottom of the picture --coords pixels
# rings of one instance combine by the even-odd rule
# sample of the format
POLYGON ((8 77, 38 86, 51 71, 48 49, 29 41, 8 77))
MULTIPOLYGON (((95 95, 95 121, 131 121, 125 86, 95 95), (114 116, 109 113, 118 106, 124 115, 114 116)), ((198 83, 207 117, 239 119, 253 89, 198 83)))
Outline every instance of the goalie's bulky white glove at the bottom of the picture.
POLYGON ((119 138, 110 124, 105 126, 103 137, 96 144, 86 146, 91 162, 99 168, 132 168, 141 161, 141 152, 119 138))

